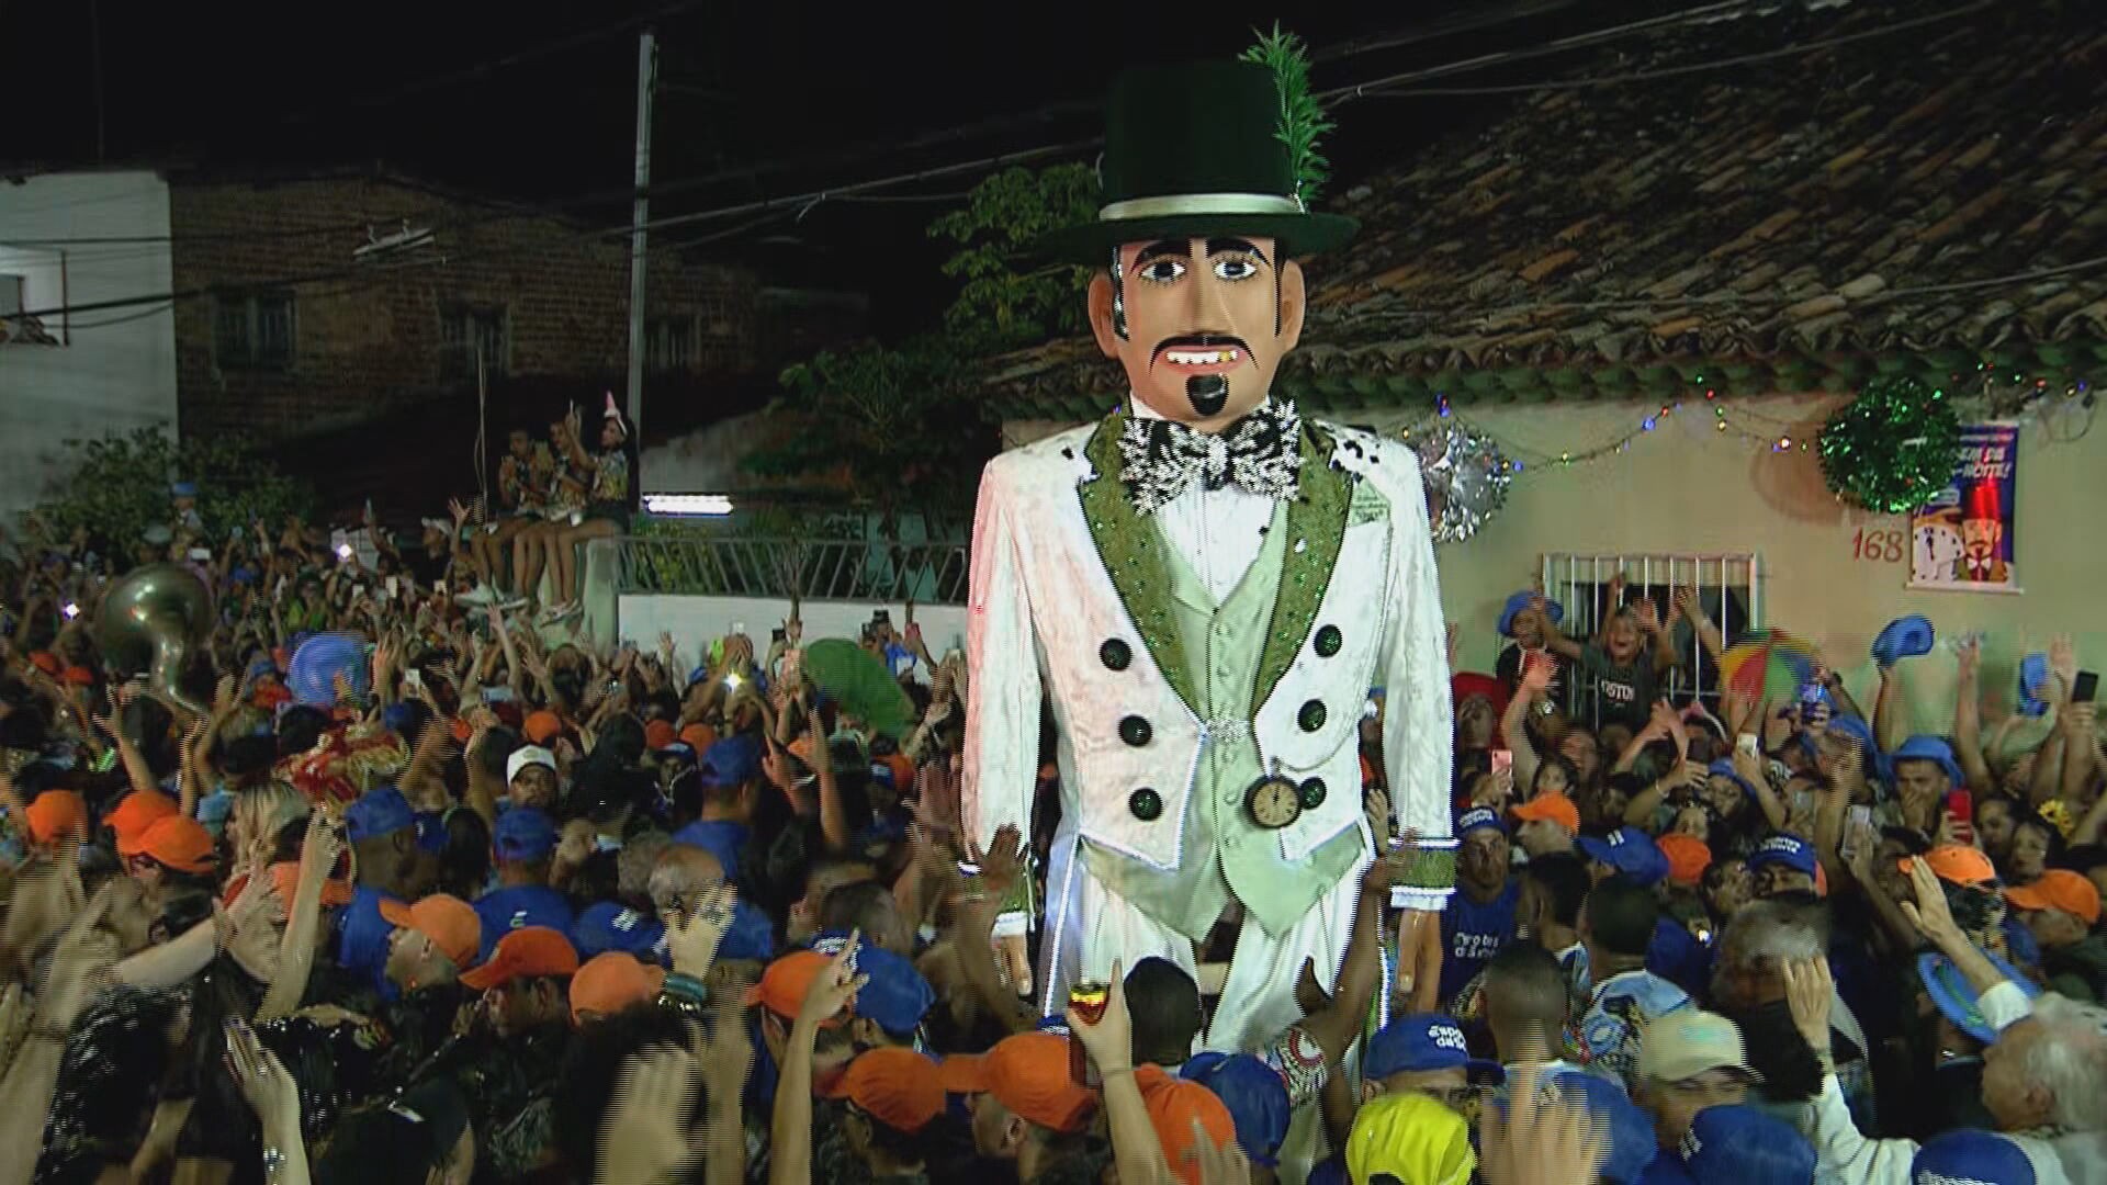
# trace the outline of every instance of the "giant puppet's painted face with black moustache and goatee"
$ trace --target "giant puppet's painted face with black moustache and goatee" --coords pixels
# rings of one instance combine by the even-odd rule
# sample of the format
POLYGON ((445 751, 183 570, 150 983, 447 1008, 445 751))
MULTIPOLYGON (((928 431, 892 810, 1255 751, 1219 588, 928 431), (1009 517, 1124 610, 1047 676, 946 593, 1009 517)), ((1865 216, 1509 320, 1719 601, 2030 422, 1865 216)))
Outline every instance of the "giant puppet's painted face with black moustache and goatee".
POLYGON ((1216 432, 1266 401, 1302 337, 1302 268, 1273 238, 1163 238, 1119 247, 1089 285, 1098 348, 1134 399, 1216 432))

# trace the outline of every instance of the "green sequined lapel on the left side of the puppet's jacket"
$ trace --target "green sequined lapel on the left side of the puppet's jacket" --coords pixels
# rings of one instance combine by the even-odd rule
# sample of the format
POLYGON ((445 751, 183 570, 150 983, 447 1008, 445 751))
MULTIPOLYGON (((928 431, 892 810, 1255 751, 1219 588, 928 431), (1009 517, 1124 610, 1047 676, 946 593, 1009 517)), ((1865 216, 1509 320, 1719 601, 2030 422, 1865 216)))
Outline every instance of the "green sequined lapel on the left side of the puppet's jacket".
MULTIPOLYGON (((1119 436, 1127 428, 1127 411, 1121 407, 1098 424, 1083 445, 1094 477, 1077 485, 1083 500, 1083 521, 1089 525, 1089 540, 1098 546, 1112 588, 1127 618, 1140 630, 1148 658, 1155 660, 1163 681, 1184 700, 1186 708, 1199 715, 1199 694, 1193 687, 1193 671, 1186 666, 1184 637, 1178 633, 1178 616, 1171 611, 1171 574, 1163 561, 1163 536, 1155 523, 1142 519, 1134 502, 1127 500, 1119 474, 1125 458, 1119 455, 1119 436)), ((1338 550, 1338 544, 1332 544, 1338 550)), ((1330 565, 1327 565, 1330 571, 1330 565)))

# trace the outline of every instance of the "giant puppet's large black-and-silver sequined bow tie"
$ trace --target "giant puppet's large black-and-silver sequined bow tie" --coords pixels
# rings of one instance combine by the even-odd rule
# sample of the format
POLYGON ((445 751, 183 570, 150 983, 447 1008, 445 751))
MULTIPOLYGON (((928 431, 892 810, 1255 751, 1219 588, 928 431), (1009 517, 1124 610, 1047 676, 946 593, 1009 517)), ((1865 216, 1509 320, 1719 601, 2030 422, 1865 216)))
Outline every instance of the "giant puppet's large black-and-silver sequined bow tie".
POLYGON ((1216 434, 1174 420, 1127 420, 1119 436, 1119 481, 1142 514, 1161 510, 1195 481, 1205 489, 1237 483, 1262 498, 1294 498, 1302 468, 1302 417, 1292 403, 1268 403, 1216 434))

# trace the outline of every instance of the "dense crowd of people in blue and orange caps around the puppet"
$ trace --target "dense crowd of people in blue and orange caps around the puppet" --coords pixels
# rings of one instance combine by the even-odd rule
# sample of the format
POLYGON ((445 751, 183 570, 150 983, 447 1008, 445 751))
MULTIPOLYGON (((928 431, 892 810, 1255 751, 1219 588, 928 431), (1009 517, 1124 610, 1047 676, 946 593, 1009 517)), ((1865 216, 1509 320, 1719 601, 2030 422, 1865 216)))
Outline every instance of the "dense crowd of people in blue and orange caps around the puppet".
POLYGON ((1399 974, 1395 858, 1365 862, 1285 1037, 1321 1067, 1283 1075, 1195 1050, 1169 959, 1039 1016, 997 919, 1043 900, 1051 820, 961 833, 971 687, 912 618, 858 639, 895 730, 809 677, 794 605, 765 645, 573 637, 626 432, 558 428, 560 462, 514 436, 501 514, 415 542, 215 548, 179 485, 143 542, 17 548, 0 1185, 2107 1181, 2107 761, 2069 643, 1989 730, 1962 643, 1951 732, 1907 736, 1915 624, 1865 711, 1827 668, 1719 696, 1694 595, 1612 586, 1568 637, 1517 592, 1454 679, 1441 972, 1399 974), (118 552, 213 588, 181 685, 97 652, 118 552))

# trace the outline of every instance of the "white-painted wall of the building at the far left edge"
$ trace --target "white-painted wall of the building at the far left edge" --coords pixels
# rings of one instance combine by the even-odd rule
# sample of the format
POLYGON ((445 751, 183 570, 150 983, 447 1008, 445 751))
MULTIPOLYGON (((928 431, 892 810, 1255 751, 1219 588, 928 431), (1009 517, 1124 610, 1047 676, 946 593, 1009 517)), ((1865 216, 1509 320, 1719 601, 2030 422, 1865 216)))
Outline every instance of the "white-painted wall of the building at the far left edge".
MULTIPOLYGON (((27 308, 171 291, 169 242, 29 245, 32 238, 166 236, 169 183, 145 171, 0 181, 0 272, 40 272, 27 308), (63 291, 48 276, 63 253, 63 291)), ((175 310, 154 304, 44 316, 65 346, 0 346, 0 521, 36 504, 63 443, 175 424, 175 310)))

